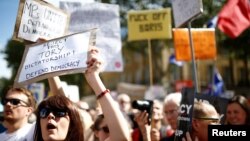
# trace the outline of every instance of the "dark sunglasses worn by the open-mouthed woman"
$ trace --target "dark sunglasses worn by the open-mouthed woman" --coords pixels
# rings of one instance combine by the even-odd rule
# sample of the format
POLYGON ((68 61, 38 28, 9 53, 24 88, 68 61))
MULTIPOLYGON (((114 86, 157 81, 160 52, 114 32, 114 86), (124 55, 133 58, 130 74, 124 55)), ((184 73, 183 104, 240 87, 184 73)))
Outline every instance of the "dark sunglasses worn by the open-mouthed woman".
POLYGON ((39 112, 39 116, 40 118, 46 118, 50 113, 53 113, 55 117, 65 117, 67 115, 65 110, 42 108, 39 112))

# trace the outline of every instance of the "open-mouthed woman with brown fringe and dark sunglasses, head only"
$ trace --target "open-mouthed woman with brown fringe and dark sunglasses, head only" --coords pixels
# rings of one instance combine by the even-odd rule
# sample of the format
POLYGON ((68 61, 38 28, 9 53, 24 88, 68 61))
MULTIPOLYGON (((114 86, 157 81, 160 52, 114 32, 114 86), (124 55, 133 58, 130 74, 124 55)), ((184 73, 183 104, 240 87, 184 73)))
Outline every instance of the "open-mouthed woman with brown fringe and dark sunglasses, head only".
POLYGON ((84 132, 77 107, 57 94, 43 100, 36 112, 35 141, 83 141, 84 132))

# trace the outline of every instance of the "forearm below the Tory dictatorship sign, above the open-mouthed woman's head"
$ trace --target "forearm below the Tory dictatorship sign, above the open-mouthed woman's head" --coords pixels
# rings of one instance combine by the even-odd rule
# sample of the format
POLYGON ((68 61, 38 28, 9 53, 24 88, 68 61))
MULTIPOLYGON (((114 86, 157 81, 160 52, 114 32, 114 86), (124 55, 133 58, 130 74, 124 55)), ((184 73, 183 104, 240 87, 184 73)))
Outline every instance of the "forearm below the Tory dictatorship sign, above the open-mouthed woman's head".
POLYGON ((56 94, 65 95, 59 76, 50 77, 48 78, 48 81, 49 81, 50 90, 53 95, 56 95, 56 94))

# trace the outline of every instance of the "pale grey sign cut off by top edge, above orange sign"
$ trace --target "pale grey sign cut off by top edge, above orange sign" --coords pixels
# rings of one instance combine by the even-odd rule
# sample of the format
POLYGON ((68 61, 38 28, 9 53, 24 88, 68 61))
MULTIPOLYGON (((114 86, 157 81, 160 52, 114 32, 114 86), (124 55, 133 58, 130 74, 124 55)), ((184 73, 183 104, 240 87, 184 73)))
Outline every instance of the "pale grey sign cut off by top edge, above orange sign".
POLYGON ((202 0, 173 0, 172 8, 175 27, 180 27, 203 12, 202 0))

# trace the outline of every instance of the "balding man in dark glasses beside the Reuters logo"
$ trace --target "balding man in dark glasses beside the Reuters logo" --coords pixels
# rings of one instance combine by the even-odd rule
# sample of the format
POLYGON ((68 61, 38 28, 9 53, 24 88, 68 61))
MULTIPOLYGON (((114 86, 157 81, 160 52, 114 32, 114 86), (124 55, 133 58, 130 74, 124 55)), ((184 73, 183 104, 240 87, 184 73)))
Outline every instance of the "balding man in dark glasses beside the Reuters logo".
POLYGON ((192 131, 183 141, 208 141, 208 125, 220 124, 220 116, 215 107, 207 102, 195 101, 192 114, 192 131), (191 138, 190 138, 191 137, 191 138))

